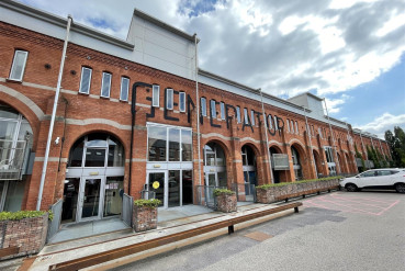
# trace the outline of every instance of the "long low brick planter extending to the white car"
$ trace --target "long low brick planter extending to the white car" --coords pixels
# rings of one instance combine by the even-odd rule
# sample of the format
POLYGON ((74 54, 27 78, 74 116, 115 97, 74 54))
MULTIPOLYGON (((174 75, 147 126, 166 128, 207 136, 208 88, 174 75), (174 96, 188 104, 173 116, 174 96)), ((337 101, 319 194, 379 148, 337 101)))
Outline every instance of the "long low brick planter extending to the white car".
POLYGON ((313 181, 306 183, 291 183, 281 187, 270 187, 267 189, 257 188, 257 202, 272 203, 277 201, 288 200, 291 197, 313 194, 323 191, 329 191, 339 187, 339 179, 327 181, 313 181))

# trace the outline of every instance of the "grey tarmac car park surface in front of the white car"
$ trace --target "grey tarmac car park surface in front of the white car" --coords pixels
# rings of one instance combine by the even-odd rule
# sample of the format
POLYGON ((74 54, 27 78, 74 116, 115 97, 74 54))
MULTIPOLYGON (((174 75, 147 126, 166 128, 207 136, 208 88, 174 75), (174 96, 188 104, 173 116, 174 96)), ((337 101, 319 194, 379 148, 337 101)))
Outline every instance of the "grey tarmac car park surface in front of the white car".
POLYGON ((114 270, 405 270, 405 194, 335 192, 280 217, 114 270))

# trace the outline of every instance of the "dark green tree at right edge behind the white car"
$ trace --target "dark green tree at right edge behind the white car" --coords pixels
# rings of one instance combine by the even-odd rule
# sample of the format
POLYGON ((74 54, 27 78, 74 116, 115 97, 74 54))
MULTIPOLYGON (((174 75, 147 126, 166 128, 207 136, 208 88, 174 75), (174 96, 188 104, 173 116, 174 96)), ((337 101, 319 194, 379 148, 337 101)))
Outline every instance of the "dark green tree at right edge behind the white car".
POLYGON ((400 126, 394 127, 394 133, 390 129, 385 132, 385 140, 391 148, 393 166, 405 167, 405 133, 400 126))

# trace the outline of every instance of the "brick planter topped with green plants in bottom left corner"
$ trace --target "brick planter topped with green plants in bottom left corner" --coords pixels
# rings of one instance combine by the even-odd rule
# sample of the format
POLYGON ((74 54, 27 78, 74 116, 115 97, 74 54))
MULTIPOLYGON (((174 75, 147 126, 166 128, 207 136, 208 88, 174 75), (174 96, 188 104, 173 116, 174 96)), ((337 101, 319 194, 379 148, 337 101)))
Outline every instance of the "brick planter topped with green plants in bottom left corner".
POLYGON ((46 241, 52 212, 19 211, 0 213, 0 248, 18 247, 19 253, 1 260, 40 252, 46 241))

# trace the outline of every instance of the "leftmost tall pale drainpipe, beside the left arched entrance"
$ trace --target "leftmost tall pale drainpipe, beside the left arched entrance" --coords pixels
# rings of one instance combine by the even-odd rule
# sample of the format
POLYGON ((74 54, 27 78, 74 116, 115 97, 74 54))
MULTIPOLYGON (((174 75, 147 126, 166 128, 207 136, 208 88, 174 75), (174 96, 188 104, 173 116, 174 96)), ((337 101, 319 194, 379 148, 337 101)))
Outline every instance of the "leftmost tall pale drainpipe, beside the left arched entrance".
POLYGON ((63 49, 61 59, 60 59, 60 68, 59 68, 59 75, 58 75, 58 82, 56 84, 56 93, 55 93, 55 100, 54 100, 54 108, 52 110, 50 126, 49 126, 49 132, 48 132, 48 139, 46 142, 46 149, 45 149, 45 157, 44 157, 44 166, 43 166, 43 169, 42 169, 42 176, 41 176, 41 182, 40 182, 38 200, 36 202, 36 211, 40 211, 41 210, 41 202, 42 202, 42 195, 43 195, 43 192, 44 192, 46 169, 47 169, 47 166, 48 166, 52 134, 54 133, 54 125, 55 125, 56 110, 57 110, 58 100, 59 100, 61 77, 64 75, 66 49, 67 49, 67 45, 68 45, 68 41, 69 41, 69 32, 70 32, 70 25, 71 25, 72 20, 74 20, 72 16, 71 15, 68 15, 68 23, 67 23, 67 27, 66 27, 66 37, 65 37, 64 49, 63 49))

